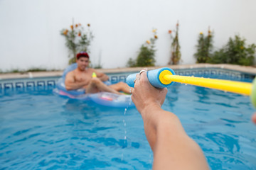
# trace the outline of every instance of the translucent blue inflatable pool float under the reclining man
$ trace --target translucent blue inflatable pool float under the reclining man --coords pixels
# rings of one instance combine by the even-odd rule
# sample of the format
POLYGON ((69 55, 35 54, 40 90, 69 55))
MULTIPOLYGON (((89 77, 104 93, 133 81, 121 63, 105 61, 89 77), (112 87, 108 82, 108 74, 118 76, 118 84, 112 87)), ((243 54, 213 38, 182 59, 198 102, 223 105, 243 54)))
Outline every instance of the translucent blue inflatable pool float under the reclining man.
MULTIPOLYGON (((60 96, 67 96, 68 98, 74 98, 83 101, 94 101, 95 103, 102 105, 102 106, 110 106, 115 108, 124 108, 127 106, 134 106, 132 103, 131 95, 118 95, 112 94, 109 92, 100 92, 97 94, 85 94, 85 89, 78 89, 78 90, 71 90, 67 91, 65 89, 65 76, 68 72, 73 71, 76 69, 78 65, 71 64, 65 71, 63 72, 63 76, 58 80, 56 84, 56 88, 53 89, 55 94, 60 96)), ((110 81, 104 82, 107 85, 110 85, 110 81)))

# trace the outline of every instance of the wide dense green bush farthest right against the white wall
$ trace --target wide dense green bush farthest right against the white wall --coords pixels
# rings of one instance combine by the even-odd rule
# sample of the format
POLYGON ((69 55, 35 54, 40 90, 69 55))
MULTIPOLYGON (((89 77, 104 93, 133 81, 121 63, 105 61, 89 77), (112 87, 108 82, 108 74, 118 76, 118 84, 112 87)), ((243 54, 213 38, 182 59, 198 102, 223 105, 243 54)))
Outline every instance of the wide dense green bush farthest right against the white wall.
POLYGON ((211 63, 229 63, 240 65, 252 65, 255 58, 256 45, 246 45, 245 39, 235 35, 220 50, 214 52, 211 63), (247 46, 247 47, 246 47, 247 46))

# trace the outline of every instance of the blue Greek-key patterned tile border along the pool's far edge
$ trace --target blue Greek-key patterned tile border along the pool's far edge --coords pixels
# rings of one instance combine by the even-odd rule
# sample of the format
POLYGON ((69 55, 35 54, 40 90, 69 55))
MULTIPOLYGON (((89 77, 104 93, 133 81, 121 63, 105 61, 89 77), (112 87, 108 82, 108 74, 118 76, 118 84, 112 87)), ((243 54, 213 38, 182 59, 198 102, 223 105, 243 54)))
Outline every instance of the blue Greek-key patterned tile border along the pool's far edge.
MULTIPOLYGON (((195 76, 195 77, 211 77, 219 79, 252 79, 255 74, 246 74, 238 71, 219 69, 219 68, 195 68, 195 69, 177 69, 174 70, 177 75, 182 76, 195 76)), ((107 74, 110 77, 112 83, 126 80, 129 74, 134 72, 107 74)), ((35 79, 11 79, 11 80, 0 80, 0 91, 6 89, 42 89, 48 88, 53 89, 57 84, 60 77, 46 77, 46 78, 35 78, 35 79)))

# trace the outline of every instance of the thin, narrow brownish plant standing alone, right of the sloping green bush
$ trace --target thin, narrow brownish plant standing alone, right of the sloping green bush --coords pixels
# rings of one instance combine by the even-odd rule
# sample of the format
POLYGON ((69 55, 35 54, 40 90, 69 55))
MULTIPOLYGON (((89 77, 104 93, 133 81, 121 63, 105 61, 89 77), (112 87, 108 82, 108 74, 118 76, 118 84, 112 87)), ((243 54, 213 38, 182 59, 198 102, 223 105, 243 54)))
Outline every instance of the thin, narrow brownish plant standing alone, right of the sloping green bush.
POLYGON ((178 26, 179 24, 176 24, 176 30, 172 31, 169 30, 169 34, 171 35, 171 58, 168 64, 178 64, 178 62, 181 60, 181 46, 179 45, 178 41, 178 26), (172 32, 175 33, 175 36, 171 34, 172 32))

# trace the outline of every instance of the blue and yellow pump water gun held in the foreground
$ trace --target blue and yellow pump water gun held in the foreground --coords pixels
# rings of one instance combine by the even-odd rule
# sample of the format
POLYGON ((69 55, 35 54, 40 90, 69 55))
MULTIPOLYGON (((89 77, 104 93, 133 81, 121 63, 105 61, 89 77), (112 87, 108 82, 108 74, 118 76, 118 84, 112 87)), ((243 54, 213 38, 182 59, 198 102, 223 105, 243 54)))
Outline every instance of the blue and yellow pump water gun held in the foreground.
MULTIPOLYGON (((210 79, 203 77, 187 77, 178 76, 175 74, 174 70, 164 67, 161 69, 154 69, 146 72, 149 82, 152 86, 156 88, 169 87, 174 82, 182 84, 191 84, 195 86, 203 86, 210 89, 218 89, 223 91, 228 91, 236 94, 243 94, 250 96, 252 104, 256 108, 256 79, 252 83, 240 82, 240 81, 230 81, 223 79, 210 79)), ((134 80, 136 79, 136 74, 130 74, 127 77, 127 84, 134 87, 134 80)))

